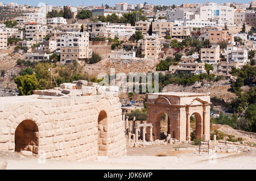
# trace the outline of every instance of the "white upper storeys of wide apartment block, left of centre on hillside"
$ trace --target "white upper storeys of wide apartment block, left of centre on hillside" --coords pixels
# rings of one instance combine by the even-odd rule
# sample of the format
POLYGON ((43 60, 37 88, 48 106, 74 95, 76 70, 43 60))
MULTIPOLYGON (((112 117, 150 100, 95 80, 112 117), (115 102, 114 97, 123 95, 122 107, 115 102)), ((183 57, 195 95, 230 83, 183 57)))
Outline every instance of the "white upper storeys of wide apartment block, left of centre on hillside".
POLYGON ((56 49, 60 47, 89 47, 88 32, 73 32, 71 35, 61 35, 56 37, 56 49))

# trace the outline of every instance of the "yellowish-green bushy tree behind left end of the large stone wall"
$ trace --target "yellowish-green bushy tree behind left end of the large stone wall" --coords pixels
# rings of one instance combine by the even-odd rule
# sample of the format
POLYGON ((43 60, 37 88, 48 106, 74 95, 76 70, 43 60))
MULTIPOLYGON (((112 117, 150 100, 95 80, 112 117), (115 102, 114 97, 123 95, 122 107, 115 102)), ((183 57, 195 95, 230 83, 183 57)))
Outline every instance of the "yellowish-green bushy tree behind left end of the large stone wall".
POLYGON ((39 89, 38 79, 36 79, 35 75, 19 75, 14 78, 14 82, 19 89, 19 95, 31 95, 33 90, 39 89))

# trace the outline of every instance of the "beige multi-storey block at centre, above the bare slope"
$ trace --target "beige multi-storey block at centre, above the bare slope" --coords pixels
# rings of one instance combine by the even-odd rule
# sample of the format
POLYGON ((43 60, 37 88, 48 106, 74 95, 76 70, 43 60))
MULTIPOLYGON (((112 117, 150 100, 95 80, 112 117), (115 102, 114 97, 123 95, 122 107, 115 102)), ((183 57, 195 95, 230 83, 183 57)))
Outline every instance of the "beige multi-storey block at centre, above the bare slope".
POLYGON ((147 36, 137 43, 138 50, 144 54, 144 58, 157 59, 161 52, 161 42, 158 40, 158 36, 147 36))

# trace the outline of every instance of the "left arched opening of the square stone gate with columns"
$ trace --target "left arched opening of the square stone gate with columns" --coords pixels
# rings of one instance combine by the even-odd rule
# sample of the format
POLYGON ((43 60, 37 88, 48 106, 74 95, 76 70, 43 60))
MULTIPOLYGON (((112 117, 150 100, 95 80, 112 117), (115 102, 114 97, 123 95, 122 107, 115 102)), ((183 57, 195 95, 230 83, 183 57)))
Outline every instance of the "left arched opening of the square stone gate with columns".
POLYGON ((157 117, 157 125, 156 128, 153 127, 153 136, 154 140, 164 140, 166 139, 167 135, 170 134, 170 117, 167 113, 160 113, 157 117))

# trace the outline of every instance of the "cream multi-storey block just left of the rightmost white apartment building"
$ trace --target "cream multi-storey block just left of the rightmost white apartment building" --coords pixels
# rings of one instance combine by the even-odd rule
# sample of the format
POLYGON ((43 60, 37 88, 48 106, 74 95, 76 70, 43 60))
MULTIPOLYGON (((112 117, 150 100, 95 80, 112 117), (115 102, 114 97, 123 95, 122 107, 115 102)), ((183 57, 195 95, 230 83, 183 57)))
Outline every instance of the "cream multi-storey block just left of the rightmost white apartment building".
POLYGON ((220 45, 213 44, 210 48, 201 48, 201 61, 217 68, 217 64, 220 62, 220 45))

